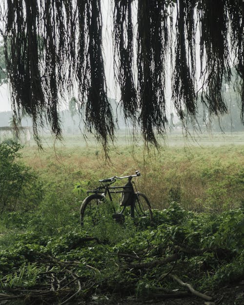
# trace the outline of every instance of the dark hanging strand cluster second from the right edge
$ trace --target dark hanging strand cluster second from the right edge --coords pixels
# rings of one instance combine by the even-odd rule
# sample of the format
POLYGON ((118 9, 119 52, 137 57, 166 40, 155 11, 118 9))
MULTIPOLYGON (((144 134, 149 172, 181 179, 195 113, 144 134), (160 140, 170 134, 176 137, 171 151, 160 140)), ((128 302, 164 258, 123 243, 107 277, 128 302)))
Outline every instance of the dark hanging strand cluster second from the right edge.
POLYGON ((230 56, 227 41, 227 0, 200 1, 201 22, 201 61, 206 53, 206 85, 202 101, 207 104, 209 113, 219 115, 227 112, 224 102, 223 81, 230 81, 230 56))

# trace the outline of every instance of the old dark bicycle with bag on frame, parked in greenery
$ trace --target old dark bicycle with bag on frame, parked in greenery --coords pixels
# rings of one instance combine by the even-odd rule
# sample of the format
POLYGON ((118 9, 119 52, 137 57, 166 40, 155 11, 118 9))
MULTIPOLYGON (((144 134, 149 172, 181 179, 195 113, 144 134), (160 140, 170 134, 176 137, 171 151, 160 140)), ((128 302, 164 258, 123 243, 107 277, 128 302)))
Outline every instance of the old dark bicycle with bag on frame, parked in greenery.
POLYGON ((108 210, 108 202, 106 196, 108 195, 110 203, 113 203, 111 194, 121 193, 120 206, 122 210, 116 212, 114 204, 110 204, 110 212, 112 217, 119 223, 124 222, 124 212, 126 207, 130 207, 130 216, 132 219, 138 217, 148 217, 152 220, 152 209, 147 197, 138 192, 133 177, 139 177, 141 173, 136 171, 135 175, 129 175, 124 177, 114 176, 107 179, 101 179, 99 182, 101 185, 94 189, 87 191, 87 197, 81 203, 81 225, 86 221, 91 221, 93 225, 96 225, 101 217, 104 217, 105 211, 108 210), (127 183, 123 186, 111 186, 117 179, 128 179, 127 183), (92 193, 92 195, 89 195, 92 193))

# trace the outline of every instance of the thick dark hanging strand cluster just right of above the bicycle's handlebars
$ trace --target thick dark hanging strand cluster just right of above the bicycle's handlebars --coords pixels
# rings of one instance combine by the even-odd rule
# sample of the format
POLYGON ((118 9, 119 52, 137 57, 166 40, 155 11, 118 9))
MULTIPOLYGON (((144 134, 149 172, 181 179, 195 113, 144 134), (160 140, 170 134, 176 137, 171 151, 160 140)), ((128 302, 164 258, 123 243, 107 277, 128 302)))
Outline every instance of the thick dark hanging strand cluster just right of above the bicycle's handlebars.
POLYGON ((145 142, 157 145, 155 129, 162 134, 167 124, 165 101, 165 55, 167 12, 160 0, 138 1, 138 91, 139 117, 145 142))

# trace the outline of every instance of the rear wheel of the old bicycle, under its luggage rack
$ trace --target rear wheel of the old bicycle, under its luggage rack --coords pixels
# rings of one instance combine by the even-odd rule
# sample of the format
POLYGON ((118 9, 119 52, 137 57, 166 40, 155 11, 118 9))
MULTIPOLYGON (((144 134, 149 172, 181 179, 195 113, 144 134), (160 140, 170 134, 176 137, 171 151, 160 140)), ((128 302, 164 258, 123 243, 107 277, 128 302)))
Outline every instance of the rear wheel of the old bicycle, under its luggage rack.
MULTIPOLYGON (((107 214, 111 215, 114 208, 100 194, 92 194, 81 203, 81 225, 96 225, 107 214)), ((111 216, 112 218, 112 216, 111 216)))

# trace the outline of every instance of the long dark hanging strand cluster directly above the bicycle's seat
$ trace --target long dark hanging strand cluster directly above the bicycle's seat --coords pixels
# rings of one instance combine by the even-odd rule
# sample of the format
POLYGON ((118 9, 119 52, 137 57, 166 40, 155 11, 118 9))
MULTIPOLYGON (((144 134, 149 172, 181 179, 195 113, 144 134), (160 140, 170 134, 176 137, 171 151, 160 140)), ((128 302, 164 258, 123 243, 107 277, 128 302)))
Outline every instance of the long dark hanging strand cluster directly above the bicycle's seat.
POLYGON ((102 57, 100 0, 78 1, 79 42, 77 77, 81 108, 85 110, 88 131, 97 135, 106 149, 114 137, 114 122, 107 98, 102 57))

